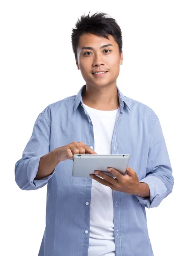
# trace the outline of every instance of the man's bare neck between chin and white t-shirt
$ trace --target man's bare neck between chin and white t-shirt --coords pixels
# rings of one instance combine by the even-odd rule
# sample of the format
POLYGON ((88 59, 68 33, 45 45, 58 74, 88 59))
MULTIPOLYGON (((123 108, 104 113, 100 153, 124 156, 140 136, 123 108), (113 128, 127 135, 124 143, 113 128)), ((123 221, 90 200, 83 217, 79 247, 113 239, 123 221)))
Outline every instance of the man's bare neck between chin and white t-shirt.
POLYGON ((116 86, 90 87, 82 92, 82 101, 90 108, 111 111, 119 107, 119 98, 116 86))

